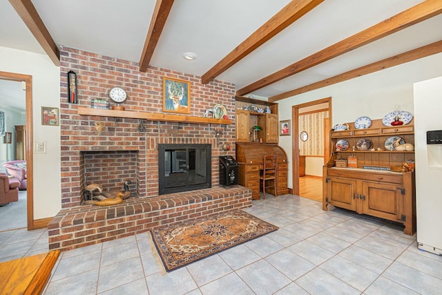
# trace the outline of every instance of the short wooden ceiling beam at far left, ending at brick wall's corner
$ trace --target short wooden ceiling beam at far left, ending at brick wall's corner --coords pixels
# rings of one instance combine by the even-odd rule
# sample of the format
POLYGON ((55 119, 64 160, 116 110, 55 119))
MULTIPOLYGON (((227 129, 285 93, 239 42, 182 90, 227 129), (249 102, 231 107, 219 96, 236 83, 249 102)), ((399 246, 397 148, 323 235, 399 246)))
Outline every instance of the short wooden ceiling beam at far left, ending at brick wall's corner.
POLYGON ((30 0, 9 0, 12 7, 17 11, 19 17, 28 26, 32 35, 39 42, 55 66, 60 66, 60 52, 57 44, 49 34, 48 29, 41 20, 35 6, 30 0))

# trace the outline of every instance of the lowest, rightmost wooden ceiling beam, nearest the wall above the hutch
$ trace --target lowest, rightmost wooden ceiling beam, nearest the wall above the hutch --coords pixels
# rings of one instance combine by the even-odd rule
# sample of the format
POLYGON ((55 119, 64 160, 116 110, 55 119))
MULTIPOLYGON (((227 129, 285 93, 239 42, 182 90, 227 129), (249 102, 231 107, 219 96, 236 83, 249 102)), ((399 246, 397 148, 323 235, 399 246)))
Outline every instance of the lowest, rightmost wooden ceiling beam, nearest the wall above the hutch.
POLYGON ((339 82, 347 81, 349 79, 378 72, 379 70, 385 70, 386 68, 391 68, 392 66, 405 64, 409 61, 414 61, 416 59, 421 59, 423 57, 435 55, 437 53, 442 53, 442 41, 437 41, 432 44, 407 51, 406 53, 401 53, 400 55, 388 57, 381 61, 376 61, 373 64, 361 66, 361 68, 355 68, 354 70, 349 70, 348 72, 306 86, 302 86, 300 88, 296 88, 292 91, 287 91, 285 93, 274 95, 272 97, 269 97, 269 102, 276 102, 280 99, 285 99, 287 97, 299 95, 301 93, 306 93, 309 91, 314 91, 315 89, 323 88, 339 82))

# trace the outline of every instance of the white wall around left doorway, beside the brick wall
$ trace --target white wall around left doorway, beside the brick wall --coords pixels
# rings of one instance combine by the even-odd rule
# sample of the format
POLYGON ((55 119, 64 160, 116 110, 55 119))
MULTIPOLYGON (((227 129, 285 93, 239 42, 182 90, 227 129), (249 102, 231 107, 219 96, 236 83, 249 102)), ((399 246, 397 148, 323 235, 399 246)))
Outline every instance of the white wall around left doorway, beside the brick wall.
POLYGON ((41 126, 41 106, 59 108, 60 69, 46 55, 0 46, 0 71, 32 76, 33 140, 46 143, 46 153, 33 155, 34 219, 55 216, 61 209, 60 127, 41 126))

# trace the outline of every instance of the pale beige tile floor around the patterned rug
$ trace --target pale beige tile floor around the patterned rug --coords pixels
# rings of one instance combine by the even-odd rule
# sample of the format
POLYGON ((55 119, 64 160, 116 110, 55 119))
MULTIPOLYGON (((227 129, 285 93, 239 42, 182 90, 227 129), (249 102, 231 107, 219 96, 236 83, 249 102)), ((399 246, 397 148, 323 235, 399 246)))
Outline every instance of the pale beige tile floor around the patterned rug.
MULTIPOLYGON (((442 256, 401 226, 298 196, 247 209, 280 227, 166 273, 147 233, 59 257, 44 294, 442 294, 442 256)), ((47 232, 0 232, 0 260, 46 251, 47 232)))

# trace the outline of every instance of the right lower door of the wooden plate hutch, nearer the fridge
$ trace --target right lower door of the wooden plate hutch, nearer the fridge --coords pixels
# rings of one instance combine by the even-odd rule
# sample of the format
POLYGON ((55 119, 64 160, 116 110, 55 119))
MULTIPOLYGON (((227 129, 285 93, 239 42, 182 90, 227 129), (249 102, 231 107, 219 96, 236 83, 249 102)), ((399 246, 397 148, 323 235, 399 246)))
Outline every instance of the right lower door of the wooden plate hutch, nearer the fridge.
POLYGON ((363 182, 363 213, 388 220, 401 220, 403 196, 394 184, 363 182))

